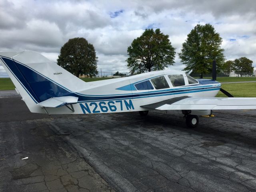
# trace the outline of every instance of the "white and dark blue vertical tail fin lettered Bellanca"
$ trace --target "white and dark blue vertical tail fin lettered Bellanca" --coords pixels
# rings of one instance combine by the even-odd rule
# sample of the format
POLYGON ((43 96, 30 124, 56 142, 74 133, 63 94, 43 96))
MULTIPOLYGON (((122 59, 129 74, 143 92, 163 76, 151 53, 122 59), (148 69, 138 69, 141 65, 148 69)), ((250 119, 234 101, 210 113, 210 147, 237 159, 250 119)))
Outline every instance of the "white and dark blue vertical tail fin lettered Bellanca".
POLYGON ((74 91, 86 84, 37 52, 0 52, 0 62, 31 112, 46 113, 38 103, 75 96, 74 91))

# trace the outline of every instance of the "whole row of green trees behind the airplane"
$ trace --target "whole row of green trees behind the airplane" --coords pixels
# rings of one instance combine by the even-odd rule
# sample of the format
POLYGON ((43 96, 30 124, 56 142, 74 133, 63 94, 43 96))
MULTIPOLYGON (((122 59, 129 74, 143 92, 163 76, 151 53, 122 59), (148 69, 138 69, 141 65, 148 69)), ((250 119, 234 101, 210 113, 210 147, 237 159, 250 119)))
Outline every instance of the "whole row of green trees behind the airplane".
MULTIPOLYGON (((197 24, 187 35, 178 53, 180 61, 186 66, 184 71, 199 73, 202 78, 203 74, 212 72, 212 62, 216 60, 217 72, 253 72, 252 60, 246 57, 226 61, 221 44, 222 38, 211 24, 197 24)), ((163 34, 160 29, 146 29, 127 48, 127 68, 131 74, 163 70, 174 64, 175 50, 169 36, 163 34)), ((98 57, 94 46, 85 38, 68 40, 62 46, 57 61, 58 65, 76 76, 92 77, 98 74, 98 57)), ((116 75, 122 76, 119 72, 116 75)))

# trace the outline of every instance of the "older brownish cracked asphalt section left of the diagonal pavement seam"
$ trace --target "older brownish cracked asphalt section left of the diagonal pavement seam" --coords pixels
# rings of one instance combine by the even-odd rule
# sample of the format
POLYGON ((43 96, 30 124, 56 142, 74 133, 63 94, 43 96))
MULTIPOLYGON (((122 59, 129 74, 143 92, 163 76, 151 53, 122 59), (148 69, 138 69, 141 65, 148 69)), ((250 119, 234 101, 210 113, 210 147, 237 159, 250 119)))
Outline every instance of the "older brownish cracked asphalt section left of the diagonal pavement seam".
POLYGON ((20 97, 0 98, 0 192, 114 192, 49 126, 54 118, 30 113, 20 97))

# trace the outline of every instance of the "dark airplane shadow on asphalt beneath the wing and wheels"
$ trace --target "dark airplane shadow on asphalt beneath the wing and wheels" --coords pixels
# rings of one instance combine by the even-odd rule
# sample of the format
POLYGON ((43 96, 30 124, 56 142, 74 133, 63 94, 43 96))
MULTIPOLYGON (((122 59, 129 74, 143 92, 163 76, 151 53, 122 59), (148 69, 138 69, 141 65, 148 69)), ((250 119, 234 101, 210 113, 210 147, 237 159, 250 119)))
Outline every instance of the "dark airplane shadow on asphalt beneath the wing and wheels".
MULTIPOLYGON (((214 118, 204 118, 199 116, 199 125, 196 128, 188 128, 185 123, 185 118, 181 113, 168 113, 164 114, 163 112, 154 112, 150 111, 148 116, 142 117, 137 112, 132 112, 129 114, 132 118, 138 120, 140 118, 141 124, 146 127, 154 130, 154 126, 163 127, 165 130, 182 130, 190 134, 197 134, 200 136, 213 137, 218 140, 230 140, 230 142, 243 142, 250 146, 255 146, 255 130, 256 127, 251 127, 244 129, 243 125, 238 125, 232 120, 226 120, 225 117, 214 117, 214 118), (230 126, 225 128, 222 124, 223 121, 228 121, 230 126), (232 126, 233 124, 233 126, 232 126), (152 126, 154 125, 154 126, 152 126)), ((236 117, 241 118, 243 117, 236 117)), ((227 122, 226 122, 227 123, 227 122)), ((245 122, 246 123, 246 122, 245 122)), ((245 124, 244 124, 245 126, 245 124)))

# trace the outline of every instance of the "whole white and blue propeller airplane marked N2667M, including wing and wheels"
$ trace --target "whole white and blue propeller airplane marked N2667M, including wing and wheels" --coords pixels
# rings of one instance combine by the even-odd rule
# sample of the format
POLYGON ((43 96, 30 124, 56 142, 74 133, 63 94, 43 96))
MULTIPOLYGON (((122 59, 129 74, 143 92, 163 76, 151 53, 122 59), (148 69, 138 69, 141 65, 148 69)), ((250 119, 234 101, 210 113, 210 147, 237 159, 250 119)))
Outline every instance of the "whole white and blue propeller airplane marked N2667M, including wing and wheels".
POLYGON ((216 98, 221 84, 185 72, 160 70, 123 78, 84 82, 33 51, 0 52, 0 62, 30 112, 98 114, 180 110, 195 128, 198 115, 212 110, 256 109, 256 98, 216 98))

